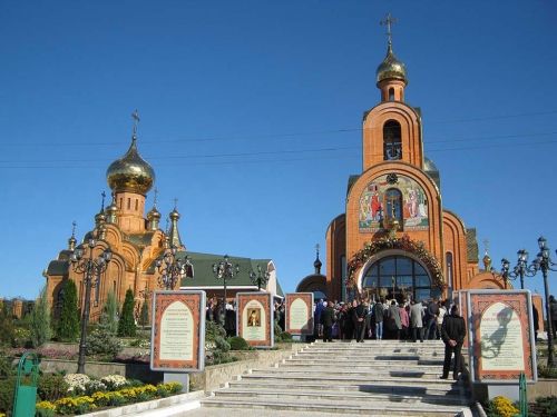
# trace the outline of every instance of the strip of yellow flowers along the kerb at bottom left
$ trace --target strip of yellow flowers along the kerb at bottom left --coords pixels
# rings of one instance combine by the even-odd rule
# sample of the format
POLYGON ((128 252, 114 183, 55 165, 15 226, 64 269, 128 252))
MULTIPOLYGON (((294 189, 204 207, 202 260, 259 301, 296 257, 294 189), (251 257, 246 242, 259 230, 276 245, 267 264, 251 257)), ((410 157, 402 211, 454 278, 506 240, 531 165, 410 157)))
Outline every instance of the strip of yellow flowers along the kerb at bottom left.
POLYGON ((128 387, 116 391, 97 391, 89 396, 65 397, 56 401, 37 403, 39 417, 55 415, 85 414, 102 407, 119 407, 126 404, 146 401, 149 399, 168 397, 182 390, 179 383, 147 384, 140 387, 128 387))

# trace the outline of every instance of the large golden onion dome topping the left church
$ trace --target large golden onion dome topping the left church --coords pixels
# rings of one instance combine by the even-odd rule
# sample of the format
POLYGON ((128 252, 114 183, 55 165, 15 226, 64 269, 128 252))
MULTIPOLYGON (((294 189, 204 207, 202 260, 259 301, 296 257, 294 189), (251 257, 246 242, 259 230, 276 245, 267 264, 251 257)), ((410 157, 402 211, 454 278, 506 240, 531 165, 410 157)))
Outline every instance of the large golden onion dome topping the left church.
POLYGON ((110 163, 106 178, 114 192, 126 191, 145 196, 150 190, 155 182, 155 171, 139 156, 135 136, 126 155, 110 163))

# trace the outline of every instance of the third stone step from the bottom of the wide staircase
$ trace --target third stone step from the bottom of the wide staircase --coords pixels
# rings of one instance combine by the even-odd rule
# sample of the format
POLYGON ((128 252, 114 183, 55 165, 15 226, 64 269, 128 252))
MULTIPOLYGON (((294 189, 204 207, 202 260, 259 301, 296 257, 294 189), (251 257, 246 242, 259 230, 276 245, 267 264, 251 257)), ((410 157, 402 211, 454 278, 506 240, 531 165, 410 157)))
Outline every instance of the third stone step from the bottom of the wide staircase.
POLYGON ((353 380, 328 380, 326 385, 319 380, 299 380, 295 385, 291 381, 283 380, 261 380, 261 379, 241 379, 228 383, 232 389, 299 389, 299 390, 325 390, 336 393, 370 393, 370 394, 394 394, 394 395, 432 395, 432 396, 451 396, 466 394, 466 388, 458 384, 444 385, 407 385, 399 383, 397 385, 381 381, 362 381, 361 384, 353 380))

